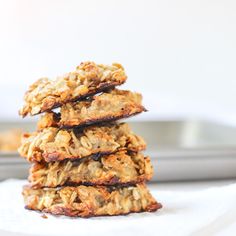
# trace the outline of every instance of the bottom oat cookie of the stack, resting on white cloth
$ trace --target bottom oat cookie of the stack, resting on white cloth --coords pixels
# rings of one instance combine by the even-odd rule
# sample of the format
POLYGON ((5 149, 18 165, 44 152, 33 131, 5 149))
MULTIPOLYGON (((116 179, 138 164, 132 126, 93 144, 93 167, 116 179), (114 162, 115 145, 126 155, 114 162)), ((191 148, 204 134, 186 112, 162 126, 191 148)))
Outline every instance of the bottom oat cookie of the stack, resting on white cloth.
POLYGON ((54 215, 105 216, 156 211, 156 202, 145 184, 128 187, 84 186, 23 189, 25 207, 54 215))

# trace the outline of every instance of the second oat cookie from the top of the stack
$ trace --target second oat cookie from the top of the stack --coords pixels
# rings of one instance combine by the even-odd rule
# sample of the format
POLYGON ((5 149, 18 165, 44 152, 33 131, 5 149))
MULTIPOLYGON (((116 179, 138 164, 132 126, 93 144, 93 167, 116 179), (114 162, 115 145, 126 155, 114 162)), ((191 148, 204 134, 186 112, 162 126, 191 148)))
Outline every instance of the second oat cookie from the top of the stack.
POLYGON ((145 111, 142 96, 126 90, 114 89, 90 100, 67 103, 60 113, 46 113, 38 122, 38 129, 50 126, 73 127, 114 121, 145 111))

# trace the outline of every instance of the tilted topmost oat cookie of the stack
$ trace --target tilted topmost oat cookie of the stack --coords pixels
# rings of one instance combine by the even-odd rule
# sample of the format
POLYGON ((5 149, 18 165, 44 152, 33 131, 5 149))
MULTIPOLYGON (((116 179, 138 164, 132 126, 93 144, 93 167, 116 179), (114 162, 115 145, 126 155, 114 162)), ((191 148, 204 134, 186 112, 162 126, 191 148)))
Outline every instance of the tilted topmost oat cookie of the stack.
POLYGON ((75 71, 56 80, 41 78, 32 84, 25 93, 25 104, 19 114, 25 117, 49 111, 67 102, 121 85, 126 79, 124 68, 120 64, 113 63, 109 66, 84 62, 75 71))

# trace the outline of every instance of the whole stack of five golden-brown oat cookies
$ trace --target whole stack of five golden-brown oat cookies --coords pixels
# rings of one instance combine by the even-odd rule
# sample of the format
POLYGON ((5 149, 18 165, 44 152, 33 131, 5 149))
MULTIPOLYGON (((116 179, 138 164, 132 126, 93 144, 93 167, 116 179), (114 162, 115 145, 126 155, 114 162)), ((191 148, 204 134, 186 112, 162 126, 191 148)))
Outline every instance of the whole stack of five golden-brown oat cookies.
POLYGON ((140 94, 115 88, 126 79, 120 64, 85 62, 30 86, 20 115, 44 115, 19 148, 32 163, 26 208, 89 217, 161 207, 145 185, 153 168, 144 140, 117 122, 145 111, 140 94))

